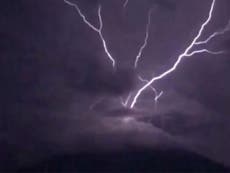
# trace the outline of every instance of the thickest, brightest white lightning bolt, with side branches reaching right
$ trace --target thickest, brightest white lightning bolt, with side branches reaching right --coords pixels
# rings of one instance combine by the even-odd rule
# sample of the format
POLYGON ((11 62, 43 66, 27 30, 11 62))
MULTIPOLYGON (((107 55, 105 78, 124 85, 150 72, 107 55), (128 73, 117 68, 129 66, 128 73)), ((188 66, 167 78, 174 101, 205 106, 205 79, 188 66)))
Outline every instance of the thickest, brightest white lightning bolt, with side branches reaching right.
MULTIPOLYGON (((192 42, 190 43, 190 45, 184 50, 183 53, 181 53, 178 57, 177 57, 177 60, 175 61, 175 63, 173 64, 173 66, 171 68, 169 68, 168 70, 166 70, 165 72, 163 72, 162 74, 156 76, 156 77, 153 77, 151 80, 149 80, 143 87, 141 87, 136 95, 133 97, 133 100, 131 102, 131 105, 130 105, 130 108, 133 108, 135 106, 135 104, 137 103, 137 100, 138 98, 141 96, 141 94, 148 88, 148 87, 151 87, 151 85, 157 81, 157 80, 160 80, 160 79, 163 79, 164 77, 166 77, 167 75, 169 75, 170 73, 172 73, 173 71, 175 71, 178 67, 178 65, 181 63, 181 61, 185 58, 185 57, 191 57, 195 54, 199 54, 199 53, 209 53, 209 54, 220 54, 220 53, 223 53, 223 51, 220 51, 220 52, 213 52, 213 51, 209 51, 207 49, 201 49, 201 50, 196 50, 196 51, 193 51, 190 53, 191 49, 197 45, 197 44, 201 44, 198 40, 200 39, 203 31, 204 31, 204 28, 206 27, 206 25, 209 24, 209 22, 211 21, 212 19, 212 14, 213 14, 213 10, 214 10, 214 6, 215 6, 215 2, 216 0, 212 0, 212 3, 211 3, 211 7, 210 7, 210 10, 209 10, 209 14, 208 14, 208 17, 207 19, 204 21, 204 23, 202 23, 197 35, 195 36, 195 38, 192 40, 192 42)), ((219 35, 219 34, 214 34, 214 35, 219 35)), ((212 36, 213 38, 214 36, 212 36)), ((208 41, 210 39, 207 39, 208 41)), ((205 41, 202 41, 202 43, 206 43, 208 42, 207 40, 205 41)))

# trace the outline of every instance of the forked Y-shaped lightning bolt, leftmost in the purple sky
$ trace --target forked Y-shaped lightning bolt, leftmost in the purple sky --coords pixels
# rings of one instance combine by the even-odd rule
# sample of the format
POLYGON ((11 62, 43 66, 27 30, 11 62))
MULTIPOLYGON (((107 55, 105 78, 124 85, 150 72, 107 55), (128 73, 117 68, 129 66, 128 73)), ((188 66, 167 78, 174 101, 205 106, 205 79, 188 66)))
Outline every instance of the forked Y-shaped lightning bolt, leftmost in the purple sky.
POLYGON ((109 58, 109 60, 111 61, 112 63, 112 66, 113 68, 115 68, 116 66, 116 61, 115 59, 113 58, 113 56, 111 55, 111 53, 109 52, 108 50, 108 46, 107 46, 107 43, 106 43, 106 40, 102 34, 102 30, 103 30, 103 20, 102 20, 102 17, 101 17, 101 5, 98 6, 98 10, 97 10, 97 14, 98 14, 98 20, 99 20, 99 27, 97 28, 96 26, 94 26, 92 23, 90 23, 88 21, 88 19, 86 18, 86 16, 82 13, 81 9, 79 8, 79 6, 76 4, 76 3, 73 3, 73 2, 70 2, 68 0, 64 0, 64 2, 72 7, 75 8, 75 10, 78 12, 78 14, 80 15, 80 17, 82 18, 83 22, 88 26, 90 27, 92 30, 94 30, 95 32, 98 33, 101 41, 102 41, 102 44, 103 44, 103 48, 104 48, 104 51, 107 55, 107 57, 109 58))

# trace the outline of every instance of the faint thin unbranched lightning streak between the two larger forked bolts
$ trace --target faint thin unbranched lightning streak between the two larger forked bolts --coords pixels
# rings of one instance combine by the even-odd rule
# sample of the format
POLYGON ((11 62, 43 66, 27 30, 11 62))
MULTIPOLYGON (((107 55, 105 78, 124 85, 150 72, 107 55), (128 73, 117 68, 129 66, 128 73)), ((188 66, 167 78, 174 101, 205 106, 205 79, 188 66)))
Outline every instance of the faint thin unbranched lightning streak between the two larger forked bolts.
POLYGON ((149 29, 150 29, 150 24, 151 24, 151 14, 152 14, 152 9, 151 9, 151 10, 149 11, 149 13, 148 13, 148 22, 147 22, 147 25, 146 25, 144 43, 141 45, 141 47, 140 47, 140 49, 139 49, 139 52, 138 52, 138 54, 137 54, 137 56, 136 56, 135 63, 134 63, 134 68, 137 68, 138 62, 139 62, 139 60, 140 60, 140 57, 142 56, 143 50, 145 49, 145 47, 146 47, 147 44, 148 44, 149 29))

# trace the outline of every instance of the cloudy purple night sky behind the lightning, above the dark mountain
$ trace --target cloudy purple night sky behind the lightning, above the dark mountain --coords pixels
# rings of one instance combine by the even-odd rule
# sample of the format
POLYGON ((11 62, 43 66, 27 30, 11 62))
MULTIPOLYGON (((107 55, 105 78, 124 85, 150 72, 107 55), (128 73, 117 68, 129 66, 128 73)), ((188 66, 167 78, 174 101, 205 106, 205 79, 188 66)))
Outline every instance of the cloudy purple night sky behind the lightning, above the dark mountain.
MULTIPOLYGON (((98 34, 63 0, 3 0, 0 5, 0 159, 30 165, 57 154, 119 151, 130 146, 182 147, 230 167, 230 32, 154 83, 135 109, 120 97, 170 68, 208 16, 211 0, 72 0, 99 26, 116 60, 114 70, 98 34), (135 57, 145 37, 139 66, 135 57)), ((201 39, 223 29, 230 1, 216 0, 201 39)))

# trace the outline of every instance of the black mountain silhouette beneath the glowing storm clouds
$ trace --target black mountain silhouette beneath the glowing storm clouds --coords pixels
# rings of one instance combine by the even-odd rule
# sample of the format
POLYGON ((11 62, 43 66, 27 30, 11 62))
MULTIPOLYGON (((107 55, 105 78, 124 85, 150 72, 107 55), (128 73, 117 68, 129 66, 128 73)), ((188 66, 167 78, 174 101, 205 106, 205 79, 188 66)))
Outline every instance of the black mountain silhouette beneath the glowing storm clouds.
POLYGON ((185 150, 130 150, 53 156, 17 172, 230 172, 221 164, 185 150))

